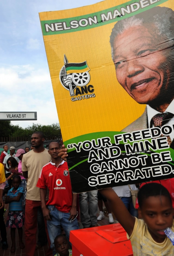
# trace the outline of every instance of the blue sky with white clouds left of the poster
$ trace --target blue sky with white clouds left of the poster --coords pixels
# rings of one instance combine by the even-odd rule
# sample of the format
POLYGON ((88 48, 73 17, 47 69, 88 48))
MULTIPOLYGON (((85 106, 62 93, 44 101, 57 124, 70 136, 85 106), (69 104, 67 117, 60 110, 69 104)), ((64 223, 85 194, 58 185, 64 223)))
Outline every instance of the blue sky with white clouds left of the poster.
POLYGON ((2 111, 36 111, 32 123, 58 123, 39 12, 95 4, 100 0, 0 0, 0 92, 2 111))

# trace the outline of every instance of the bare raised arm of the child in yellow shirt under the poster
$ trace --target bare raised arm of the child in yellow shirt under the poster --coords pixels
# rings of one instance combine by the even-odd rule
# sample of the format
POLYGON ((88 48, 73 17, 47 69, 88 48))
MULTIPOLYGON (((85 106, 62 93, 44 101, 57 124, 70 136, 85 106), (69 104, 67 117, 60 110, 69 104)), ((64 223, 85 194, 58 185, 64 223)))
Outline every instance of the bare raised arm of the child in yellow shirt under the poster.
POLYGON ((128 235, 131 236, 135 225, 135 217, 129 213, 120 197, 117 196, 112 188, 100 189, 99 191, 103 196, 107 198, 109 206, 115 217, 126 230, 128 235))

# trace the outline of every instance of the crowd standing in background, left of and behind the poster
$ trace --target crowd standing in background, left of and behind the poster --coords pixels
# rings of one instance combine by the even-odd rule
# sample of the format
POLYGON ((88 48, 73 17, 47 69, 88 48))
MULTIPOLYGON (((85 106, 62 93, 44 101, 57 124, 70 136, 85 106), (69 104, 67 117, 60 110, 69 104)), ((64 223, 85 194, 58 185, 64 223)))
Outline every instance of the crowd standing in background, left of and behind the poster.
POLYGON ((60 243, 66 244, 71 255, 69 235, 71 230, 79 228, 79 215, 83 228, 98 226, 97 221, 105 217, 104 202, 109 223, 114 223, 114 219, 107 199, 97 190, 79 195, 72 193, 67 162, 58 156, 59 143, 51 142, 49 149, 46 149, 43 142, 43 133, 35 132, 31 137, 32 150, 28 147, 20 148, 15 153, 15 147, 3 147, 0 158, 0 190, 5 199, 1 200, 0 206, 2 249, 8 248, 8 227, 11 229, 11 252, 16 251, 17 228, 19 246, 21 249, 26 247, 27 256, 34 255, 36 249, 47 243, 50 245, 47 255, 61 255, 56 246, 59 240, 60 243), (9 204, 6 227, 3 216, 4 203, 9 204), (22 240, 23 226, 25 245, 22 240), (66 237, 61 235, 62 232, 66 237))

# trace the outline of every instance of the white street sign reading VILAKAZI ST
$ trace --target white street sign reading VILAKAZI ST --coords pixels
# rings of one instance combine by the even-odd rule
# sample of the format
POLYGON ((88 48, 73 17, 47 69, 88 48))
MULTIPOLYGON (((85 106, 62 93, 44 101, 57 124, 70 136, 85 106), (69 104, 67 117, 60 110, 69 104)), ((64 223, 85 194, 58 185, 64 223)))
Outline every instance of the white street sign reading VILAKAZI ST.
POLYGON ((0 120, 37 120, 37 112, 0 112, 0 120))

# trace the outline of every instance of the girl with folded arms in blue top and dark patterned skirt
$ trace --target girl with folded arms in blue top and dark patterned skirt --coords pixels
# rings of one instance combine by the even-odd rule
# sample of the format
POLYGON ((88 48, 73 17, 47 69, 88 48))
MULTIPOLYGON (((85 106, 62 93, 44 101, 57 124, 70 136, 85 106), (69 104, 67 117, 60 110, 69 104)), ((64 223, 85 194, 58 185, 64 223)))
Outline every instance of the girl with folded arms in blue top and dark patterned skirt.
POLYGON ((15 231, 18 228, 19 246, 21 249, 25 247, 22 242, 22 226, 24 224, 24 213, 22 206, 22 199, 24 189, 20 187, 20 176, 12 177, 12 188, 8 191, 5 204, 9 204, 9 213, 7 217, 6 227, 11 228, 12 247, 11 252, 16 251, 15 246, 15 231))

